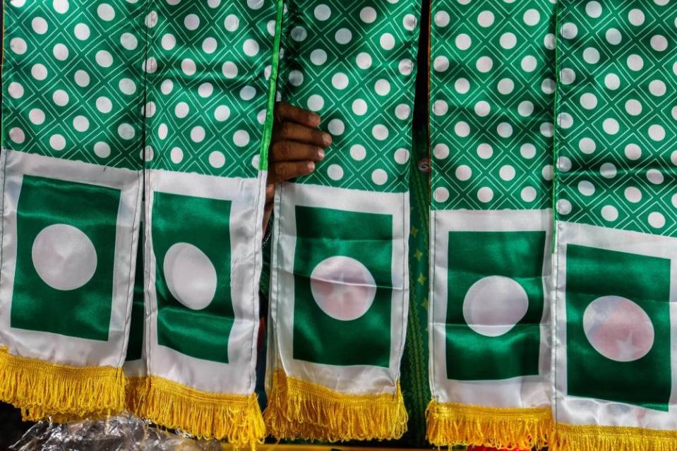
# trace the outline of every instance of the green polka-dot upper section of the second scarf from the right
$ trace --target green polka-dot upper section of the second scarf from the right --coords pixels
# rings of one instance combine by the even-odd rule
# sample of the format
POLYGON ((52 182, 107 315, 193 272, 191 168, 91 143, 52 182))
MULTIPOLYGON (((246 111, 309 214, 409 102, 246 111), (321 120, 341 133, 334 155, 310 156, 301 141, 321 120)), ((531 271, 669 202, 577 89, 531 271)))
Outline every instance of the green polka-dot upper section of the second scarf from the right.
POLYGON ((433 209, 551 205, 554 1, 433 2, 433 209))

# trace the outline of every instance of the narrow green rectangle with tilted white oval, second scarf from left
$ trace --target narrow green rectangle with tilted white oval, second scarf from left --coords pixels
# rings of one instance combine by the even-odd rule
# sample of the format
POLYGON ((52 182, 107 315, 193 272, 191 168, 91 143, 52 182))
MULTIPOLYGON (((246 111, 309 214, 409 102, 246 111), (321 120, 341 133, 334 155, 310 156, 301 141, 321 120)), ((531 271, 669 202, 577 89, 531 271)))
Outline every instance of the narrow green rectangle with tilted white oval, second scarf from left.
POLYGON ((228 363, 234 323, 231 295, 232 202, 154 193, 157 343, 228 363))

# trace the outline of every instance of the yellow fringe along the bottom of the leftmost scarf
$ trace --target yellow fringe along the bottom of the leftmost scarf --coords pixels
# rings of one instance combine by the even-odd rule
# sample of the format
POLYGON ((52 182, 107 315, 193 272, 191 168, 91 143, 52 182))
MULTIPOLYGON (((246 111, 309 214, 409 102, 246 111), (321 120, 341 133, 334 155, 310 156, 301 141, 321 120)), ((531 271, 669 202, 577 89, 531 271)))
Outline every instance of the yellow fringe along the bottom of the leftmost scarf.
POLYGON ((125 377, 114 366, 69 366, 9 354, 0 347, 0 400, 23 419, 66 421, 124 410, 125 377))

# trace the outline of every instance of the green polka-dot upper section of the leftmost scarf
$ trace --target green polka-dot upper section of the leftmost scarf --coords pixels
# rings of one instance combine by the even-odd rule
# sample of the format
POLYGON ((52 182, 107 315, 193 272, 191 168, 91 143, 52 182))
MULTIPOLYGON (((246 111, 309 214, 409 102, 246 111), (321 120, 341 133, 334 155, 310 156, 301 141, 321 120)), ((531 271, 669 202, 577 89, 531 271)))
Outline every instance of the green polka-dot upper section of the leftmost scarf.
POLYGON ((140 169, 146 7, 5 2, 2 147, 140 169))

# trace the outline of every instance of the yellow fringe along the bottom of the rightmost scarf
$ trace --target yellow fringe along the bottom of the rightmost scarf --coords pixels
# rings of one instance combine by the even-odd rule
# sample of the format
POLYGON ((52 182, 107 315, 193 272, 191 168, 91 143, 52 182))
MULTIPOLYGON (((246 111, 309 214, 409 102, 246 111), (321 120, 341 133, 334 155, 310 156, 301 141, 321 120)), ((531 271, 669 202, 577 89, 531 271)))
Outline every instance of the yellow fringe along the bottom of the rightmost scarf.
POLYGON ((677 451, 677 431, 558 423, 553 451, 677 451))

